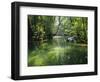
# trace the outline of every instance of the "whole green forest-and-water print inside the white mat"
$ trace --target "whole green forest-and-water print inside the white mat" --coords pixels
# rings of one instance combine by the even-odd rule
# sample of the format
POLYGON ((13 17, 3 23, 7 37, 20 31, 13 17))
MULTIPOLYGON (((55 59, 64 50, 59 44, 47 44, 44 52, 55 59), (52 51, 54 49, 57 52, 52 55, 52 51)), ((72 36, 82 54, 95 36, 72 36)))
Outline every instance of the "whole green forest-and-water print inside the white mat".
MULTIPOLYGON (((42 65, 42 61, 46 63, 43 65, 87 63, 87 26, 87 17, 28 15, 29 65, 42 65), (59 36, 60 39, 58 39, 59 36), (58 56, 60 57, 61 52, 64 52, 63 61, 61 58, 59 62, 55 58, 54 60, 50 59, 58 53, 53 51, 55 47, 61 47, 61 45, 64 48, 60 50, 58 56), (70 50, 68 46, 70 46, 70 50), (35 58, 35 56, 39 57, 35 58), (35 64, 35 60, 40 64, 35 64)), ((60 49, 60 47, 58 48, 60 49)))

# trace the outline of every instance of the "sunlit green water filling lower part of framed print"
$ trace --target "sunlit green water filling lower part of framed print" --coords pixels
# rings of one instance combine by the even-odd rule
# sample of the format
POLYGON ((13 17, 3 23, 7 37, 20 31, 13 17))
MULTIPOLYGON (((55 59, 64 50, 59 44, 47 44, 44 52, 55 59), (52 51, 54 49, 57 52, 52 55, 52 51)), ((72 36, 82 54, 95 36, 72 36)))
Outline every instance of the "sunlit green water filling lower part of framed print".
POLYGON ((28 56, 29 66, 86 64, 87 47, 66 44, 66 47, 43 44, 28 56))

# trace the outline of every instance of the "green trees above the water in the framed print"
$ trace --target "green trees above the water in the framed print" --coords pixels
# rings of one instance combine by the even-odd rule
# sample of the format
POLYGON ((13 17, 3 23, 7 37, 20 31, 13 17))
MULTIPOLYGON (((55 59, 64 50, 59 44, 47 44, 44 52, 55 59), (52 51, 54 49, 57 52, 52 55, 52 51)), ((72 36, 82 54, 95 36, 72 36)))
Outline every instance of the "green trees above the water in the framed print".
POLYGON ((39 49, 45 43, 51 45, 52 42, 56 45, 71 43, 72 46, 74 43, 74 45, 85 44, 87 46, 87 17, 28 15, 27 20, 29 50, 39 49), (58 42, 59 37, 63 41, 59 39, 58 42))

